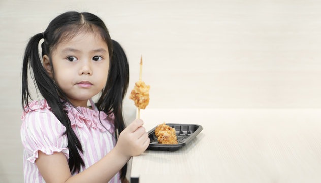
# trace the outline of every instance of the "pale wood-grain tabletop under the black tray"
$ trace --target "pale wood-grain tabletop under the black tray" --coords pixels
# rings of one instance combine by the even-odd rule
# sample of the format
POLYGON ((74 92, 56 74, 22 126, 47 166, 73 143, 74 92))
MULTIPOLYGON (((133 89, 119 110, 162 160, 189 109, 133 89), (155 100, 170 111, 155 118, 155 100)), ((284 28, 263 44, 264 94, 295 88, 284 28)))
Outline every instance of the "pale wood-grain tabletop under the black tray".
POLYGON ((158 124, 203 126, 174 152, 133 157, 131 180, 144 182, 319 182, 321 109, 146 109, 158 124))

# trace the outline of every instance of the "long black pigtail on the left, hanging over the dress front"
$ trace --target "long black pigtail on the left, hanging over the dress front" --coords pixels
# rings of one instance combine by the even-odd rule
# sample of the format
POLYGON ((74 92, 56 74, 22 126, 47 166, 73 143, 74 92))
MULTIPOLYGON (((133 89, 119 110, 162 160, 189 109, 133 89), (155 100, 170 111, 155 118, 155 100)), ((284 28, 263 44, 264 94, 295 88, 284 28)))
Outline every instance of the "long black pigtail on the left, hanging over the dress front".
MULTIPOLYGON (((69 150, 69 169, 73 173, 80 170, 81 165, 84 166, 77 149, 83 152, 81 143, 77 138, 75 132, 71 128, 70 120, 67 116, 67 111, 64 110, 64 103, 69 102, 63 92, 55 84, 55 82, 49 77, 47 71, 44 69, 38 51, 39 41, 44 38, 43 33, 33 36, 27 44, 22 66, 22 107, 29 107, 28 99, 31 99, 31 95, 28 89, 28 67, 32 70, 33 81, 38 88, 41 95, 46 99, 50 106, 52 113, 57 117, 63 126, 66 127, 66 131, 62 135, 67 135, 68 150, 69 150), (60 94, 60 96, 59 96, 60 94), (61 101, 61 98, 65 101, 61 101)), ((46 47, 46 39, 42 43, 42 55, 48 53, 46 47)), ((30 108, 30 107, 29 107, 30 108)))

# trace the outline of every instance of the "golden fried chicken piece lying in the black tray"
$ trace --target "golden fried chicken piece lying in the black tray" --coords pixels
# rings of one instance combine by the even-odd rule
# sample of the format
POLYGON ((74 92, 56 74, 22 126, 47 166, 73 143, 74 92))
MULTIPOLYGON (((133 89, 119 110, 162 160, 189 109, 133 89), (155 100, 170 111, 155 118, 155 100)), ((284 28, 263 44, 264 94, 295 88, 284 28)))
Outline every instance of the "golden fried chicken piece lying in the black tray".
POLYGON ((155 129, 155 135, 161 144, 177 144, 175 128, 171 128, 165 123, 158 125, 155 129))

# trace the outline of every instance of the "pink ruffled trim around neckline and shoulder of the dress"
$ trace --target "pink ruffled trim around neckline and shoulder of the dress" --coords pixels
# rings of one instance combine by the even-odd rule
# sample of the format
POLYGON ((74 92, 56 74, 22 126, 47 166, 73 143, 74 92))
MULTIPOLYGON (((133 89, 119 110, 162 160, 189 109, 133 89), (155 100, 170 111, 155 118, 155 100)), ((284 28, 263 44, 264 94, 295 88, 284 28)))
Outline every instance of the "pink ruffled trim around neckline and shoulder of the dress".
MULTIPOLYGON (((94 103, 92 103, 92 105, 94 105, 94 103)), ((103 111, 97 111, 87 107, 75 108, 68 104, 65 104, 65 106, 68 111, 71 126, 77 126, 79 128, 87 126, 88 128, 98 129, 101 132, 108 130, 110 133, 114 133, 115 116, 113 113, 107 115, 103 111)), ((93 106, 93 108, 95 108, 95 106, 93 106)), ((24 120, 26 114, 30 111, 37 109, 47 109, 51 111, 50 106, 44 99, 33 101, 29 103, 29 107, 25 106, 24 109, 21 120, 24 120)))

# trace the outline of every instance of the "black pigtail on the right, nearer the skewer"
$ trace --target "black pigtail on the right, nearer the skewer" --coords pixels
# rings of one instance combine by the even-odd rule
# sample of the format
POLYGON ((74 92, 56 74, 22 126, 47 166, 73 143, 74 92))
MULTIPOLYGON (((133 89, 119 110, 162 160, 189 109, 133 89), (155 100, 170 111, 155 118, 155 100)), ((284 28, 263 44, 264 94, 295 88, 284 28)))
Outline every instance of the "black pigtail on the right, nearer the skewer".
MULTIPOLYGON (((119 43, 112 40, 112 46, 107 84, 97 102, 97 106, 99 110, 104 111, 106 114, 114 113, 115 132, 118 132, 116 139, 118 139, 120 132, 125 129, 122 116, 122 101, 129 83, 129 66, 126 54, 119 43)), ((126 172, 127 164, 121 169, 122 179, 125 178, 126 172)))

